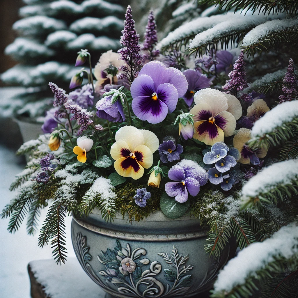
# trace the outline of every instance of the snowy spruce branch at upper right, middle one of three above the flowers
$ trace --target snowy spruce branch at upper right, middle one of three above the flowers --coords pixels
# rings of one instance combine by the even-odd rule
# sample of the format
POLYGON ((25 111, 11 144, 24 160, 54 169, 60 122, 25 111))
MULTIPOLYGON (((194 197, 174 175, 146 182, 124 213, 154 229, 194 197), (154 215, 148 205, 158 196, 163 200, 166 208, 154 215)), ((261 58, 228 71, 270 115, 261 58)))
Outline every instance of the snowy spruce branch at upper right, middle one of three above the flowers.
POLYGON ((229 20, 197 34, 188 48, 199 55, 202 55, 204 50, 210 50, 213 44, 216 48, 218 44, 221 45, 221 49, 223 47, 227 48, 229 45, 238 44, 243 36, 255 26, 266 22, 268 19, 279 17, 280 15, 235 14, 235 16, 231 16, 229 20))

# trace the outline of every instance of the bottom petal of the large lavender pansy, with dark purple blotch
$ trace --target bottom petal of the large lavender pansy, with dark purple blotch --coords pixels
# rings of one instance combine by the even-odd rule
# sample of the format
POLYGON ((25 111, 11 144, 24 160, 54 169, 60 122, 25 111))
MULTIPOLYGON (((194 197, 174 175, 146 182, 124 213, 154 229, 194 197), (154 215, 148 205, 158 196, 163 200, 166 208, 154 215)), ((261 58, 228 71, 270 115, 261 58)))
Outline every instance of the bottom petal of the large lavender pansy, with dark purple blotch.
POLYGON ((168 113, 167 105, 161 100, 153 100, 145 96, 135 97, 131 108, 139 119, 147 120, 152 124, 162 122, 168 113))

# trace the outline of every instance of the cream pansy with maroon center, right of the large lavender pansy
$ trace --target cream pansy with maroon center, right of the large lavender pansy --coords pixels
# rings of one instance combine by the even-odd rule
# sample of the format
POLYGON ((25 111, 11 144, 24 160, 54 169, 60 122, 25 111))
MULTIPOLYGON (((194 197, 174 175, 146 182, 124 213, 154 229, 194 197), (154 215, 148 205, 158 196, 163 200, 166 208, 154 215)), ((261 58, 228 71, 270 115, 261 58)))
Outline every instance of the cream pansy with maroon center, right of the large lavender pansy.
POLYGON ((214 145, 235 133, 236 120, 242 115, 241 103, 235 96, 206 88, 195 93, 194 101, 190 114, 194 115, 195 139, 214 145))

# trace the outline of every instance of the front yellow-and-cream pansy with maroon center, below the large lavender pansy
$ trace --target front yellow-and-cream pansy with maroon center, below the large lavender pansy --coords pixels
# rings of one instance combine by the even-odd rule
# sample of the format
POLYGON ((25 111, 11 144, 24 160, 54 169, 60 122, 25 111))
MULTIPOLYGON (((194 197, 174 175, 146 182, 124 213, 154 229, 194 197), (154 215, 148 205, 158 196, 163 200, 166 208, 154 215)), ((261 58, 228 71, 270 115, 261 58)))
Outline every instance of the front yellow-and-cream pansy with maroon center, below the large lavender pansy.
POLYGON ((116 172, 123 177, 139 179, 153 164, 153 153, 158 149, 157 136, 148 130, 124 126, 115 135, 111 156, 116 160, 116 172))

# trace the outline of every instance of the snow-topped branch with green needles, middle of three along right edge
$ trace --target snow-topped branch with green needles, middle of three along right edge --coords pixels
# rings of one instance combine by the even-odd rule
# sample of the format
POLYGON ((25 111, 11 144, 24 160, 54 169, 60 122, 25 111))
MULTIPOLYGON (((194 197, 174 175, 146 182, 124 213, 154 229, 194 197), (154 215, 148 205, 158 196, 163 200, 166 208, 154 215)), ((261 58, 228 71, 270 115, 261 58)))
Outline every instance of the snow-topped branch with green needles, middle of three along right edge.
POLYGON ((283 201, 283 196, 298 193, 298 160, 276 162, 253 176, 242 188, 241 201, 244 207, 259 201, 266 203, 283 201))

